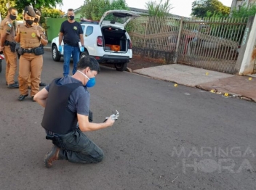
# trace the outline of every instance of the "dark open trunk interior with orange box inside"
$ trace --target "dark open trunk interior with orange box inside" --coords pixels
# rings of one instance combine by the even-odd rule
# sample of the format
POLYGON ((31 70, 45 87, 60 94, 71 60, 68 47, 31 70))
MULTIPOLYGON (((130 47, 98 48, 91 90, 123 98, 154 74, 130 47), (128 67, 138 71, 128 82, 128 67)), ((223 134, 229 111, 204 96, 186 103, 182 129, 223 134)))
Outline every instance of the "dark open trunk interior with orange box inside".
POLYGON ((129 47, 129 39, 126 30, 113 27, 103 27, 103 47, 105 51, 126 52, 129 47))

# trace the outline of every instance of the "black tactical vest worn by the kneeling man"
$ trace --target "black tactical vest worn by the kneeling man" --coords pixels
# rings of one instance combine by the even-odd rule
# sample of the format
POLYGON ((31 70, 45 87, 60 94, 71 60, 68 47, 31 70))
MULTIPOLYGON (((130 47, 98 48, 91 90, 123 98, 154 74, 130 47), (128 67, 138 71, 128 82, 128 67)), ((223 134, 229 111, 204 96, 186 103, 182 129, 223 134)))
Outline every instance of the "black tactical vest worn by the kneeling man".
POLYGON ((82 85, 81 83, 58 85, 59 80, 60 78, 57 78, 50 84, 41 126, 54 133, 66 134, 76 129, 77 125, 77 113, 68 109, 68 99, 71 92, 82 85))

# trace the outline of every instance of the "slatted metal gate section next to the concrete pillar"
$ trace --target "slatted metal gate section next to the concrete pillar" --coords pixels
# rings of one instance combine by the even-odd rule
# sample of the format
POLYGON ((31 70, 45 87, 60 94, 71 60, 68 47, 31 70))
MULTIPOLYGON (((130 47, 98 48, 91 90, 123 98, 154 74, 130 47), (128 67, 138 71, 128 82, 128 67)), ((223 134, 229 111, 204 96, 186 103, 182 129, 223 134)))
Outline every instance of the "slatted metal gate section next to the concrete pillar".
POLYGON ((177 62, 234 73, 246 18, 184 20, 181 25, 177 62))

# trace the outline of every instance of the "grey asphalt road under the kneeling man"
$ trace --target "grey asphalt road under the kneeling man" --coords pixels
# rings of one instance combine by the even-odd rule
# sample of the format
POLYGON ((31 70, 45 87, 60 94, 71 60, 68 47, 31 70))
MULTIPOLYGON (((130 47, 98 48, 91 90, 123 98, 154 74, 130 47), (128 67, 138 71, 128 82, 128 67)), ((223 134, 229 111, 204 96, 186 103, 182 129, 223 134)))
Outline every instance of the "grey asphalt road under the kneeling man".
MULTIPOLYGON (((46 52, 42 82, 62 76, 62 65, 46 52)), ((17 101, 0 73, 1 190, 256 189, 255 103, 108 67, 89 91, 96 123, 120 113, 111 128, 87 133, 105 159, 47 169, 44 109, 17 101)))

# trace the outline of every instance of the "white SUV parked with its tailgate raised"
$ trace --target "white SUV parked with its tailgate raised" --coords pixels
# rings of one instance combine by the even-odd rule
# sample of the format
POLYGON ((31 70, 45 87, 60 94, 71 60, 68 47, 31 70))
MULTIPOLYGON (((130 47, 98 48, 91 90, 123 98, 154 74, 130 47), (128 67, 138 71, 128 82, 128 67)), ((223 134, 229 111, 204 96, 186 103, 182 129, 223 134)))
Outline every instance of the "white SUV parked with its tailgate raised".
MULTIPOLYGON (((124 27, 136 17, 140 15, 131 11, 110 10, 104 13, 100 22, 81 22, 84 51, 80 57, 90 55, 99 63, 113 63, 116 70, 126 70, 127 63, 132 59, 132 41, 124 27)), ((59 37, 56 37, 52 40, 52 59, 56 62, 63 57, 63 51, 58 48, 59 37)))

